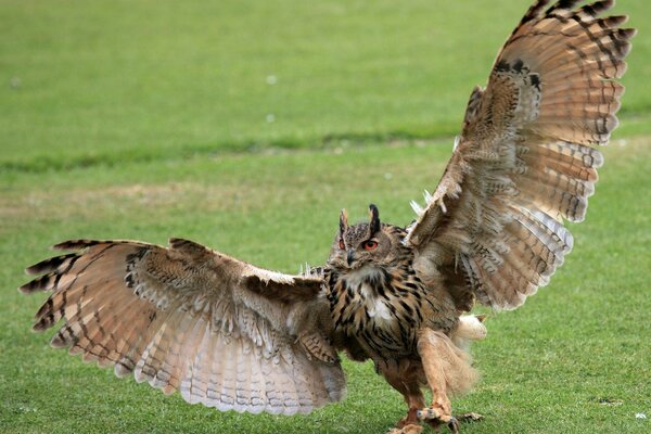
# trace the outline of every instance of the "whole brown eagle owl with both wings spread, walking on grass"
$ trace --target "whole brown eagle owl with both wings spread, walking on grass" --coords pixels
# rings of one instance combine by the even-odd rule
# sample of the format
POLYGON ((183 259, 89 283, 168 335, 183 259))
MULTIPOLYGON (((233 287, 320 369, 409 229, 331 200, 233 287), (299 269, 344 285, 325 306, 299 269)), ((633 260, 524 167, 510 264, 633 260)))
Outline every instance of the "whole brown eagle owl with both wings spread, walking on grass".
POLYGON ((113 366, 219 410, 306 413, 344 398, 340 363, 372 360, 404 395, 392 430, 459 430, 449 396, 476 380, 468 344, 485 336, 475 303, 513 309, 573 245, 617 125, 634 29, 580 7, 538 0, 475 88, 434 193, 407 227, 349 225, 322 267, 289 276, 191 241, 66 241, 21 286, 50 295, 35 330, 63 319, 54 347, 113 366), (422 388, 432 391, 426 403, 422 388))

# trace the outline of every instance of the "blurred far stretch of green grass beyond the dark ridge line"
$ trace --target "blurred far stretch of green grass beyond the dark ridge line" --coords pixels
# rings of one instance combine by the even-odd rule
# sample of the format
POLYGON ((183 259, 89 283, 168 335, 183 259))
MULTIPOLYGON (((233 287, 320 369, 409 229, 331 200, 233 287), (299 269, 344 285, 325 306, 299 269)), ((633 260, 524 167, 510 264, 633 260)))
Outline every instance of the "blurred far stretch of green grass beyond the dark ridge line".
MULTIPOLYGON (((3 0, 1 167, 458 133, 529 0, 3 0)), ((643 0, 622 108, 649 132, 643 0)))

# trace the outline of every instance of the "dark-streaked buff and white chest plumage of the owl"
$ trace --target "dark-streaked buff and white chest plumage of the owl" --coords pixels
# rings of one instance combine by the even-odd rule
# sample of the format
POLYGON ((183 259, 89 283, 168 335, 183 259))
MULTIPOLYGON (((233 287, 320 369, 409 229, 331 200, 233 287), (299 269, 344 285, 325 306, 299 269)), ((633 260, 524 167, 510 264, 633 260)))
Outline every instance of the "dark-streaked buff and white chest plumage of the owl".
POLYGON ((409 264, 332 271, 328 299, 334 328, 355 336, 373 359, 397 359, 416 352, 427 291, 409 264))

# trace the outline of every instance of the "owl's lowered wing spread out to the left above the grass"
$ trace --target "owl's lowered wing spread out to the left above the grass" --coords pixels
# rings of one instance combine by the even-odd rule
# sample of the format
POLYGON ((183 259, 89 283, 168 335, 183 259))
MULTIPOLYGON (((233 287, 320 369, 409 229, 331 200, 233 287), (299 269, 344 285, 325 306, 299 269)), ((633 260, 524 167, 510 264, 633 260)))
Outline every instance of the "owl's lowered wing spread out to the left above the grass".
POLYGON ((173 239, 68 241, 21 286, 51 292, 34 329, 52 346, 219 410, 293 414, 345 394, 319 277, 267 271, 173 239))

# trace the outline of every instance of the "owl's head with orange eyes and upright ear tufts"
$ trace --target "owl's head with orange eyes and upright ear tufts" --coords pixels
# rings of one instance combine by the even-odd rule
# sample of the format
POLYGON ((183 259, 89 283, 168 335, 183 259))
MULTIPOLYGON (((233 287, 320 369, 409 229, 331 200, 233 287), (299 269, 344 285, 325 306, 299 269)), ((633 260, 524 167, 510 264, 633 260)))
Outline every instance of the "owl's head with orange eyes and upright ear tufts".
POLYGON ((369 221, 352 226, 342 209, 328 265, 339 270, 385 267, 404 258, 404 235, 401 228, 380 221, 380 212, 373 204, 369 205, 369 221))

